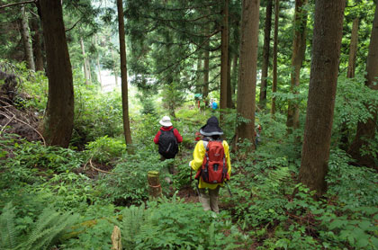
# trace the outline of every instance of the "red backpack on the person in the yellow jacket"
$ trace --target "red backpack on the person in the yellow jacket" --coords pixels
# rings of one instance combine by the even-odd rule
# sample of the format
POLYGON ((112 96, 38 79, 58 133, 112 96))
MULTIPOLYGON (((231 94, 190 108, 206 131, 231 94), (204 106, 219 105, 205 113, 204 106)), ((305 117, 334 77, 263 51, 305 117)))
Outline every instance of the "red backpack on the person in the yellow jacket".
POLYGON ((229 169, 222 141, 203 141, 203 146, 206 148, 206 153, 203 158, 202 167, 195 174, 195 179, 201 177, 203 182, 211 184, 223 183, 225 179, 229 180, 229 169))

